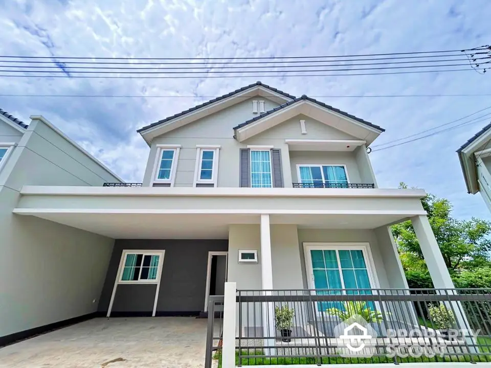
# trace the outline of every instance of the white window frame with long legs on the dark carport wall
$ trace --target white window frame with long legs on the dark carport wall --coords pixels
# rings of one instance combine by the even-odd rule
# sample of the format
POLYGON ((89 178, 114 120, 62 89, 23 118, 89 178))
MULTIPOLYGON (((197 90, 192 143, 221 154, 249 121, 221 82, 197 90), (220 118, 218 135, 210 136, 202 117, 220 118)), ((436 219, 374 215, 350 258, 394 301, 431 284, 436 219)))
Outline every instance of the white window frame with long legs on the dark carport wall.
MULTIPOLYGON (((110 317, 111 311, 113 310, 114 298, 116 296, 116 290, 118 289, 118 285, 128 285, 128 284, 138 284, 138 285, 157 285, 155 288, 155 297, 153 299, 153 311, 152 317, 155 317, 155 313, 157 312, 157 302, 159 301, 159 290, 160 290, 160 282, 162 279, 162 268, 164 263, 165 250, 148 250, 148 249, 123 249, 121 252, 121 260, 119 262, 118 273, 116 274, 116 278, 114 280, 113 293, 111 294, 111 300, 109 302, 109 307, 107 308, 107 317, 110 317), (159 256, 159 266, 157 268, 157 279, 155 280, 139 280, 139 281, 122 281, 121 278, 123 276, 124 263, 126 261, 126 256, 128 254, 143 254, 143 256, 159 256)), ((143 260, 142 260, 143 262, 143 260)), ((141 271, 141 269, 140 269, 141 271)))

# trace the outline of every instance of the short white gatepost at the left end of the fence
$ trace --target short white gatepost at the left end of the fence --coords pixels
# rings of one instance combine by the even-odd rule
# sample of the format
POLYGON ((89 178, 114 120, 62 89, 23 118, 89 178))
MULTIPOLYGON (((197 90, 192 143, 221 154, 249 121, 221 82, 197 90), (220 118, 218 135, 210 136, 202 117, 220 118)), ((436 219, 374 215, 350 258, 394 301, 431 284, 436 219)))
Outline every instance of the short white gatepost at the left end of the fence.
POLYGON ((236 294, 236 284, 226 282, 224 291, 224 327, 221 347, 221 366, 224 368, 235 367, 236 294))

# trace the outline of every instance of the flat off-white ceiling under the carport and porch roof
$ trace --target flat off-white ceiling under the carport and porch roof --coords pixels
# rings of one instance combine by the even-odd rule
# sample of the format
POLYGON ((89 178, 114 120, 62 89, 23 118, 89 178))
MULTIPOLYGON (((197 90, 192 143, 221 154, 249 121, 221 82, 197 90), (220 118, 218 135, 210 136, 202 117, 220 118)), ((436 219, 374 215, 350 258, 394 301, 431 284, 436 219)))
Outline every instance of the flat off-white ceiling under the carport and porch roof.
MULTIPOLYGON (((259 224, 257 214, 37 213, 35 216, 114 239, 228 239, 229 224, 259 224)), ((367 229, 402 215, 271 215, 272 224, 367 229)))

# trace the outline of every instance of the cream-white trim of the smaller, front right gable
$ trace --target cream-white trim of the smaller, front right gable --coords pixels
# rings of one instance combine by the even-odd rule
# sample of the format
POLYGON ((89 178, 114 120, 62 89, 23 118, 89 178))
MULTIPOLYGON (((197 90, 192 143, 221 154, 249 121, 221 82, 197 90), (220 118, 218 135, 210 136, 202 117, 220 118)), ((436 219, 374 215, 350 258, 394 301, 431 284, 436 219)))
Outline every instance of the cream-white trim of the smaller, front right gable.
POLYGON ((243 142, 244 140, 281 124, 282 122, 291 119, 298 114, 304 114, 310 118, 331 126, 332 128, 338 129, 360 140, 366 141, 368 145, 382 133, 376 128, 360 123, 354 119, 350 119, 323 106, 319 106, 318 104, 307 100, 300 100, 290 106, 273 112, 268 116, 257 120, 256 122, 238 128, 236 130, 236 139, 239 142, 243 142), (327 120, 329 123, 326 122, 327 120))

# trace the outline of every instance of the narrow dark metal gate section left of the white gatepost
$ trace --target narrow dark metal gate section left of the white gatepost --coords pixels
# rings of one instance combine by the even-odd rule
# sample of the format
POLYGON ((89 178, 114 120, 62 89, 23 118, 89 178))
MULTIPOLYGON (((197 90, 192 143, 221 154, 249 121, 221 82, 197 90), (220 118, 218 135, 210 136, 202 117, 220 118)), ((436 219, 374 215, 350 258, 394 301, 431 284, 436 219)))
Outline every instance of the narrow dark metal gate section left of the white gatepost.
POLYGON ((224 296, 210 295, 208 300, 205 368, 211 368, 213 359, 219 360, 221 358, 223 318, 224 296))

